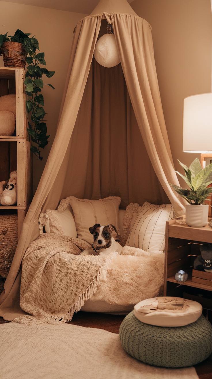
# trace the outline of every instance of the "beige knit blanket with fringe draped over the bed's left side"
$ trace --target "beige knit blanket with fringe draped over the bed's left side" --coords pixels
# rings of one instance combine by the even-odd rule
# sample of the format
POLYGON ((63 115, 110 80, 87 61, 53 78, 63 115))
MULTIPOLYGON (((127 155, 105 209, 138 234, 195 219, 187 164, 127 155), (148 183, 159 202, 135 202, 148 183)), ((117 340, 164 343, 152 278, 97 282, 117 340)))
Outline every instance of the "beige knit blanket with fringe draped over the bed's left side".
POLYGON ((22 260, 20 307, 31 316, 16 322, 70 321, 106 279, 110 257, 82 256, 90 247, 79 238, 44 233, 29 244, 22 260))

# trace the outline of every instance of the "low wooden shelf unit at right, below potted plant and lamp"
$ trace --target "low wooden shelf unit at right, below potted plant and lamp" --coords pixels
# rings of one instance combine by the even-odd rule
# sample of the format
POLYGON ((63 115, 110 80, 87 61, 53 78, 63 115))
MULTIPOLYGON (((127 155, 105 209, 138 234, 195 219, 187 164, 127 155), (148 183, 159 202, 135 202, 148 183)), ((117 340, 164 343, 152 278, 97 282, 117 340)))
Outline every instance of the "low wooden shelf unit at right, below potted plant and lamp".
POLYGON ((210 286, 192 281, 193 261, 201 254, 200 245, 203 243, 212 243, 212 228, 209 226, 193 228, 177 224, 175 220, 166 222, 164 296, 192 299, 212 310, 212 282, 210 286), (179 270, 188 274, 186 282, 175 279, 179 270))

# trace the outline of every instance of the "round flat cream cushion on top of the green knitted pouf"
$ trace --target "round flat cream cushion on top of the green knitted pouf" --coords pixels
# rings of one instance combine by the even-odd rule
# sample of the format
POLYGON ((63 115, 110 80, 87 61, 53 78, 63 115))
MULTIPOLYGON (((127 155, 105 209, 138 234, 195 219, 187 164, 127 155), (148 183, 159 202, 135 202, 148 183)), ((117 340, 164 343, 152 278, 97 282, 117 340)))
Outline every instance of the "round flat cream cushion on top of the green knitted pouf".
POLYGON ((202 310, 197 301, 161 296, 140 301, 134 307, 134 315, 145 324, 175 327, 194 323, 202 310))

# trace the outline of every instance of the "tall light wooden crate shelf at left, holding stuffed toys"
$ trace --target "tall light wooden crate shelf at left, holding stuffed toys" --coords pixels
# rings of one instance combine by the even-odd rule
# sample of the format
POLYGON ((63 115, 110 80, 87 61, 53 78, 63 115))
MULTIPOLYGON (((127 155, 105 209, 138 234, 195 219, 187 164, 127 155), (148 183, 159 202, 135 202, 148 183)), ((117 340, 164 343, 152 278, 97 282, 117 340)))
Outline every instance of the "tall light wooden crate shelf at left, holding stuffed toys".
POLYGON ((16 95, 16 126, 13 136, 0 136, 0 181, 8 180, 11 171, 17 170, 17 204, 0 205, 0 215, 5 210, 17 213, 18 235, 32 199, 32 153, 27 132, 26 94, 23 68, 0 67, 0 96, 16 95))

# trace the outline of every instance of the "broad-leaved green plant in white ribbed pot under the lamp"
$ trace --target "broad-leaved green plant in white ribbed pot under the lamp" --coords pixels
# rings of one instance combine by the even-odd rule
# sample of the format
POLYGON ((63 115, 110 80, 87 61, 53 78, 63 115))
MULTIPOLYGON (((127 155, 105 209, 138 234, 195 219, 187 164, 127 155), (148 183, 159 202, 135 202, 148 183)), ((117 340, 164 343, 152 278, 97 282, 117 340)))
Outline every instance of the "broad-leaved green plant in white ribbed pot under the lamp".
POLYGON ((196 158, 189 167, 181 163, 181 167, 185 171, 185 176, 180 175, 189 186, 189 189, 182 188, 170 184, 172 188, 189 204, 186 204, 186 224, 193 227, 203 227, 208 221, 209 205, 204 204, 207 197, 212 193, 212 187, 208 187, 212 183, 212 163, 202 168, 200 161, 196 158))

